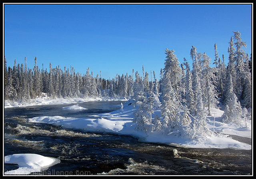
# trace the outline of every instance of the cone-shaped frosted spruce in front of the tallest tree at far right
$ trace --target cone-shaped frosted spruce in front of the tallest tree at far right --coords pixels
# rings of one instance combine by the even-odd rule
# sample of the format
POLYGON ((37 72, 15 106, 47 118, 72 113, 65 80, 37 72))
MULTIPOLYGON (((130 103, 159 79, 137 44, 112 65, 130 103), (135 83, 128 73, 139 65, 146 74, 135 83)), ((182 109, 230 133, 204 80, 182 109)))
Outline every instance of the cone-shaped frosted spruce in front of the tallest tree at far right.
POLYGON ((236 94, 233 91, 233 83, 232 83, 232 78, 230 74, 228 74, 225 96, 226 96, 226 104, 225 104, 225 110, 223 113, 223 122, 241 124, 242 107, 236 97, 236 94))

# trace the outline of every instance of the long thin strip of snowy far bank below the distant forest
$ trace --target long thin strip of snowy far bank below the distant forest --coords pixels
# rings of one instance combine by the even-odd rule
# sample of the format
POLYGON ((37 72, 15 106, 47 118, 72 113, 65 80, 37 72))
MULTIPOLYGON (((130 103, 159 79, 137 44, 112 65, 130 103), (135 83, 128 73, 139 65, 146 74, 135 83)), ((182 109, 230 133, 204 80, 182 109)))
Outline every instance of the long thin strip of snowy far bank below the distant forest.
POLYGON ((100 97, 86 97, 86 98, 56 98, 50 99, 50 97, 43 96, 36 99, 30 99, 29 102, 22 101, 8 101, 4 100, 4 108, 8 107, 26 107, 33 105, 51 105, 51 104, 72 104, 72 103, 84 103, 88 101, 127 101, 125 97, 118 98, 100 98, 100 97))

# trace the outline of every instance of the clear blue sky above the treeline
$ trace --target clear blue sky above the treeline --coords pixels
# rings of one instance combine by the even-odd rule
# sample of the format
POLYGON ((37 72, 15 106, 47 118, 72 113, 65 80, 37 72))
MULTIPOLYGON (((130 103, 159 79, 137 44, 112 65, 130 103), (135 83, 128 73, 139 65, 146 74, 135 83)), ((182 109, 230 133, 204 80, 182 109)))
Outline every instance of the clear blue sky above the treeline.
POLYGON ((164 68, 165 49, 174 49, 180 62, 189 62, 191 46, 212 62, 214 44, 228 62, 228 42, 239 31, 251 54, 250 4, 168 5, 4 5, 4 54, 7 67, 24 63, 49 70, 74 67, 102 78, 142 74, 164 68))

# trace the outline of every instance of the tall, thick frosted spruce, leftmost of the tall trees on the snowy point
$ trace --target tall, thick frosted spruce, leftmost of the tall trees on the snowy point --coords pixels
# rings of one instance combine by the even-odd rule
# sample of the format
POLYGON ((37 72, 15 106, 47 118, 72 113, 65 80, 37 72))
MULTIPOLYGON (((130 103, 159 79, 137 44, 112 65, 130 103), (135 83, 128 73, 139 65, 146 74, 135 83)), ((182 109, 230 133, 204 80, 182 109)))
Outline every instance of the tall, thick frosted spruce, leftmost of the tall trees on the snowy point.
POLYGON ((180 125, 180 109, 178 102, 178 82, 181 69, 174 50, 166 48, 166 60, 164 62, 164 76, 162 78, 162 130, 168 134, 176 131, 180 125), (175 89, 175 91, 174 91, 175 89))

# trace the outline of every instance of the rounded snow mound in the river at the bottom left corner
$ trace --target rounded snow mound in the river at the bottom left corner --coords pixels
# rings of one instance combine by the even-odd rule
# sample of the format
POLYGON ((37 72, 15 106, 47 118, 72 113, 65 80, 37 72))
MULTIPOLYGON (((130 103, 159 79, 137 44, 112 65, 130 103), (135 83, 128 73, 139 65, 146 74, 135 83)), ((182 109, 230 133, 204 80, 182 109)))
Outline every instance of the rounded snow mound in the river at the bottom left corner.
POLYGON ((24 153, 5 156, 4 163, 18 164, 19 166, 16 170, 4 172, 5 175, 28 175, 32 172, 40 172, 52 165, 60 163, 60 160, 34 153, 24 153))

